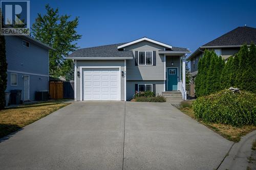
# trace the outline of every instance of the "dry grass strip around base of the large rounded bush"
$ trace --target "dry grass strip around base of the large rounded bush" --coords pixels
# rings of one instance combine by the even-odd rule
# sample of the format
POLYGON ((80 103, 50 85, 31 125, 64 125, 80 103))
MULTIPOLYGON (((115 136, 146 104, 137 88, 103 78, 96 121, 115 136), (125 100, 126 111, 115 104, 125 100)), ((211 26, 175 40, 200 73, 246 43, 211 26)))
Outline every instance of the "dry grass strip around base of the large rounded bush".
MULTIPOLYGON (((196 119, 193 109, 191 107, 191 101, 185 101, 181 103, 181 108, 179 108, 183 113, 196 119)), ((231 125, 217 124, 217 123, 204 123, 198 120, 201 124, 207 126, 211 130, 220 134, 228 140, 238 142, 242 136, 256 130, 256 126, 246 125, 242 127, 234 127, 231 125)))

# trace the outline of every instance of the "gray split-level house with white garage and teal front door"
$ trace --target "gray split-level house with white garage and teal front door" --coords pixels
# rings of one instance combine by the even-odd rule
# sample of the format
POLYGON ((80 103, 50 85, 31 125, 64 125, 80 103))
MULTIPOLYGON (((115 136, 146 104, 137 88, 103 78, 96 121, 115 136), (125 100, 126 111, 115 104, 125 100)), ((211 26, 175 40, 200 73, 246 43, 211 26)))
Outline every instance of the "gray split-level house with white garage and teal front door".
POLYGON ((75 63, 75 101, 126 101, 135 91, 179 91, 186 99, 186 53, 146 37, 76 50, 68 57, 75 63))

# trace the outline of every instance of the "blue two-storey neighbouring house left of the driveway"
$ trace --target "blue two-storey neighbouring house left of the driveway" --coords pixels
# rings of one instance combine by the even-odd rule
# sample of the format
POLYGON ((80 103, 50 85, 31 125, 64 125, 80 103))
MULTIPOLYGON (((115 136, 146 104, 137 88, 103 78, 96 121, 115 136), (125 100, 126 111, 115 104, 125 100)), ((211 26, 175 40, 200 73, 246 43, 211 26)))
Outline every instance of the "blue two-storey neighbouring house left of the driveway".
POLYGON ((48 90, 49 50, 52 47, 29 36, 5 36, 6 92, 22 90, 22 101, 35 100, 35 91, 48 90))

